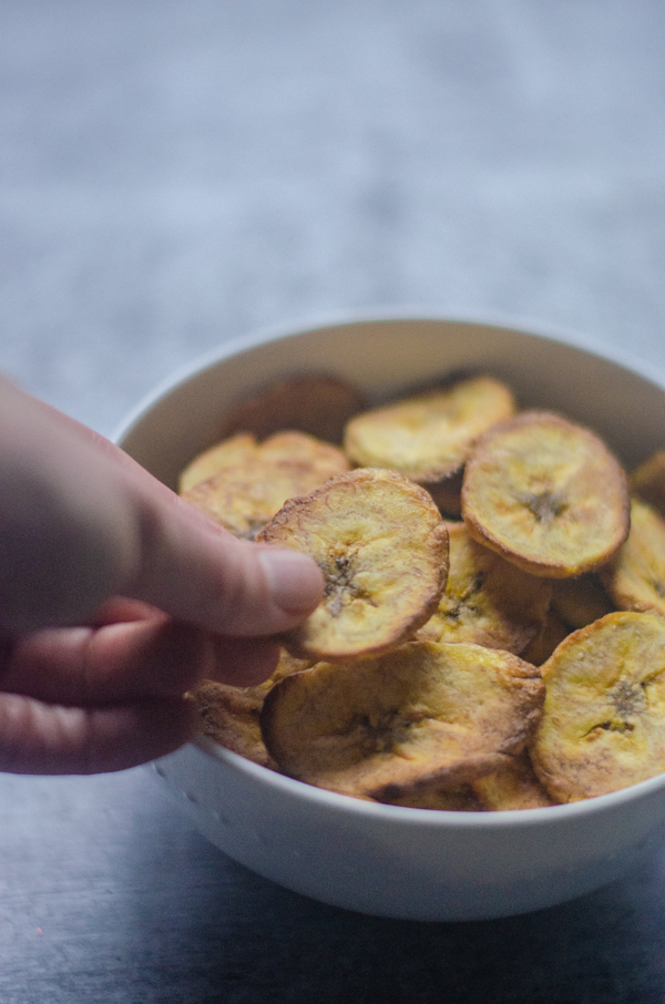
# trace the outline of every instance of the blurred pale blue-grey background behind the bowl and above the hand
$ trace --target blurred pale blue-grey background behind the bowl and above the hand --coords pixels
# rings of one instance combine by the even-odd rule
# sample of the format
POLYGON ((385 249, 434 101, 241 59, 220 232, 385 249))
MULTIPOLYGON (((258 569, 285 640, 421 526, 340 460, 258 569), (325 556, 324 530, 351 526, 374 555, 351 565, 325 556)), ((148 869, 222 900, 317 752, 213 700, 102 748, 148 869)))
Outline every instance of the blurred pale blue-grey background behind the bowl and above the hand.
POLYGON ((664 53, 662 0, 0 0, 0 369, 111 433, 357 307, 665 368, 664 53))

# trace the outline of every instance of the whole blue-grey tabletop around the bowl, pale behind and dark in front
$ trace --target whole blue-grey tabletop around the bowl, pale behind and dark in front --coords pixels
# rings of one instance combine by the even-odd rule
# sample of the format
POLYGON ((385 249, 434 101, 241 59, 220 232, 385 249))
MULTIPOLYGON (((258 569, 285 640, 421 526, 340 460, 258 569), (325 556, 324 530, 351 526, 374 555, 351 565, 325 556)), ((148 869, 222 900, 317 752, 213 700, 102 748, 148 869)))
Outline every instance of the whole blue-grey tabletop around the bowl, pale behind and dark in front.
MULTIPOLYGON (((665 371, 659 0, 0 0, 0 369, 103 433, 356 308, 500 313, 665 371)), ((245 871, 141 770, 0 777, 3 1004, 659 1004, 665 854, 411 924, 245 871)))

